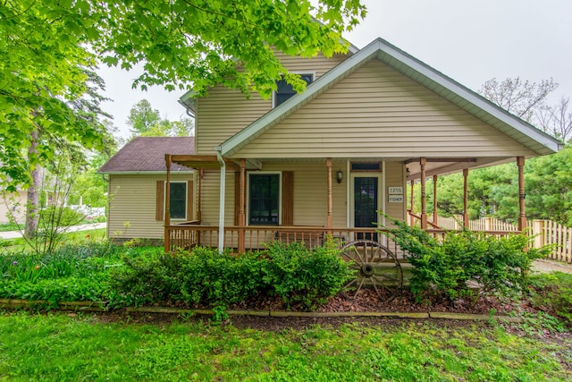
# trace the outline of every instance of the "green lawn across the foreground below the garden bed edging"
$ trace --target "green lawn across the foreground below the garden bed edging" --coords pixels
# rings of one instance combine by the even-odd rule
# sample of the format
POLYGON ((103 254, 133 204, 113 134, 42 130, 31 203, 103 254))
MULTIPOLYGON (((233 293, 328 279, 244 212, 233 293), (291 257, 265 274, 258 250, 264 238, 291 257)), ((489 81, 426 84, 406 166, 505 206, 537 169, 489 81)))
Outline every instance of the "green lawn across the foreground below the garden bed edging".
POLYGON ((572 379, 569 348, 486 325, 404 322, 267 332, 18 312, 0 316, 0 332, 0 379, 15 381, 572 379))

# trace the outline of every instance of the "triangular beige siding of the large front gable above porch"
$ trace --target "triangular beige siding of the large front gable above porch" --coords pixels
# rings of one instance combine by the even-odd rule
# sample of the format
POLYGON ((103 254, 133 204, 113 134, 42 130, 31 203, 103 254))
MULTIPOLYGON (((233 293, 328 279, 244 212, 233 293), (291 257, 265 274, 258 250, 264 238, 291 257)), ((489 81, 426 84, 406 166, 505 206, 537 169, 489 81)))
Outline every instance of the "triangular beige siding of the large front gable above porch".
POLYGON ((458 106, 374 60, 233 157, 533 154, 458 106))

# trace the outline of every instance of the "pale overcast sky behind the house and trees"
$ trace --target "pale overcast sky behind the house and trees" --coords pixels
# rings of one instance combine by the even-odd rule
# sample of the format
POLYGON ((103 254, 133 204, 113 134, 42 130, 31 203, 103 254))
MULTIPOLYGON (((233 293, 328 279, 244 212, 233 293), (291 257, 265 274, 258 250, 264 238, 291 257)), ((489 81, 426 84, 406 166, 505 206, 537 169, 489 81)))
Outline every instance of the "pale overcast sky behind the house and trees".
MULTIPOLYGON (((346 38, 365 47, 384 38, 425 64, 477 90, 484 81, 520 77, 559 83, 551 103, 572 97, 572 1, 570 0, 365 0, 366 20, 346 38)), ((170 120, 185 109, 183 94, 154 87, 131 89, 133 72, 102 69, 105 103, 114 124, 125 124, 131 106, 145 98, 170 120)))

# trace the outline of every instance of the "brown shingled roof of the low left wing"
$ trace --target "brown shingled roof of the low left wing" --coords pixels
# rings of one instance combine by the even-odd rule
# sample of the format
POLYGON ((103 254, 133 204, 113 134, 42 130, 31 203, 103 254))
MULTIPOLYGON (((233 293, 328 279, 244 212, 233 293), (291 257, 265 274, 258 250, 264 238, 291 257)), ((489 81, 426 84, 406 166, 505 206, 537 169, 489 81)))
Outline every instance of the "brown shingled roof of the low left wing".
MULTIPOLYGON (((192 155, 195 137, 137 137, 122 147, 98 173, 164 172, 165 154, 192 155)), ((171 171, 191 171, 172 164, 171 171)))

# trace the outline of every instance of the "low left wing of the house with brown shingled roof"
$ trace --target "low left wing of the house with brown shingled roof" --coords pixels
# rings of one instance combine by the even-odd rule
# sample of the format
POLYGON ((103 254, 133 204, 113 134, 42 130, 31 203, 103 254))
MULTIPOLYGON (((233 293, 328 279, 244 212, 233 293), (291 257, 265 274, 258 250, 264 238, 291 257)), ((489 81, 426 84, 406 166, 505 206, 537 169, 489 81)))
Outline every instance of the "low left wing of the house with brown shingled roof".
MULTIPOLYGON (((107 237, 117 241, 163 242, 167 153, 188 154, 193 137, 138 137, 111 157, 98 173, 107 178, 107 237)), ((193 220, 193 171, 171 168, 171 221, 193 220)))

